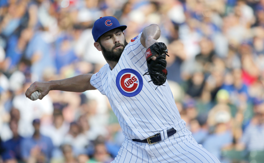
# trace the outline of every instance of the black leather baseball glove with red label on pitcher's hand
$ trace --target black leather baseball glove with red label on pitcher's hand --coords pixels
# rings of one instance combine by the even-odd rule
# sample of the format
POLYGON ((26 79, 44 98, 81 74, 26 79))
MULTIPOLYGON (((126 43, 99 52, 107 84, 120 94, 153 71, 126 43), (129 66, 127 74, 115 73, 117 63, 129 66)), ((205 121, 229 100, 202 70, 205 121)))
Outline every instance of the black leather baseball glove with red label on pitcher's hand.
POLYGON ((150 75, 151 80, 149 82, 153 82, 153 84, 158 86, 163 85, 167 79, 167 62, 165 60, 166 55, 168 55, 167 53, 168 49, 162 42, 155 43, 146 50, 148 72, 146 72, 144 75, 150 75), (156 54, 159 55, 156 60, 151 59, 156 54))

